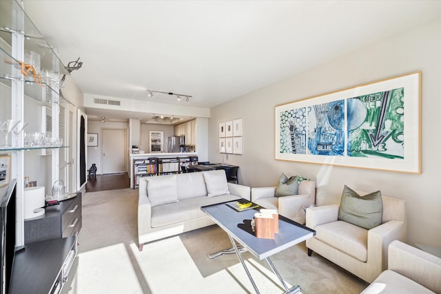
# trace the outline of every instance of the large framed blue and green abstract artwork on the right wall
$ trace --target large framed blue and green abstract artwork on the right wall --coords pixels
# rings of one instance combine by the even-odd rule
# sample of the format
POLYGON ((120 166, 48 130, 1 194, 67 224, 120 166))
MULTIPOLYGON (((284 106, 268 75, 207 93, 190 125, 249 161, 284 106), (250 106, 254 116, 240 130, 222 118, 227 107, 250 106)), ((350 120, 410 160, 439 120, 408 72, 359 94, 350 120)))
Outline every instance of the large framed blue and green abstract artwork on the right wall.
POLYGON ((275 107, 275 158, 421 173, 421 72, 275 107))

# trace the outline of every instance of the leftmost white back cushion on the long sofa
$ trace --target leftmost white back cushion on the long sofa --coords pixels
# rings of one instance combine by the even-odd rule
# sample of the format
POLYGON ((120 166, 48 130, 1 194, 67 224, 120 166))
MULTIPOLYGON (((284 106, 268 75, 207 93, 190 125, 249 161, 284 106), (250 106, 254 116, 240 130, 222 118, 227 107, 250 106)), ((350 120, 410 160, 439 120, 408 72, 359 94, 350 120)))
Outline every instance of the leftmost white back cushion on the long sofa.
POLYGON ((178 202, 176 175, 152 176, 147 179, 147 197, 152 207, 178 202))

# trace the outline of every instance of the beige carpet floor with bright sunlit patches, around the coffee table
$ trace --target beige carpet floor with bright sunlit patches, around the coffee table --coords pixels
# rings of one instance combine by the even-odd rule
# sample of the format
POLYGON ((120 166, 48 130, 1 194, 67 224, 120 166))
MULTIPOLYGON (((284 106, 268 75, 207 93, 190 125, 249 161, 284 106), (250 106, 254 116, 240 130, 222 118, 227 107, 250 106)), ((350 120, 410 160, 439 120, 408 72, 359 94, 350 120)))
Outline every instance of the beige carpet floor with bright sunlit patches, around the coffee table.
MULTIPOLYGON (((254 293, 236 255, 210 260, 229 244, 217 226, 137 248, 138 190, 83 194, 79 254, 63 293, 254 293)), ((244 253, 260 293, 283 293, 268 264, 244 253)), ((325 258, 307 256, 305 242, 271 257, 288 286, 302 293, 360 293, 366 282, 325 258)))

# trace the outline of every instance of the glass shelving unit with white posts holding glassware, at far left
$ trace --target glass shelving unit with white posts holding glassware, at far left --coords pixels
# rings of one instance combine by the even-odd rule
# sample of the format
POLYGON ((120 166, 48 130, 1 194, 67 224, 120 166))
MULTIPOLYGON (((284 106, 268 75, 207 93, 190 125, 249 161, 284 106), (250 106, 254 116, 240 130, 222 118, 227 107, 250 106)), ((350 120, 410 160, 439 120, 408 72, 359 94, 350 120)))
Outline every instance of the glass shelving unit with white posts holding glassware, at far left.
MULTIPOLYGON (((23 121, 32 119, 31 122, 34 125, 37 123, 43 125, 40 121, 43 120, 43 117, 37 118, 38 112, 41 112, 41 110, 37 110, 36 107, 41 105, 42 108, 47 107, 52 111, 52 127, 54 128, 52 134, 57 136, 59 134, 59 105, 70 103, 61 95, 59 82, 68 74, 69 72, 65 70, 65 66, 59 59, 56 50, 44 39, 43 34, 23 10, 21 1, 0 0, 0 86, 2 87, 1 98, 4 102, 2 112, 0 112, 0 121, 10 118, 23 121), (38 79, 34 81, 32 74, 25 77, 21 73, 21 61, 24 61, 27 50, 40 56, 40 72, 37 72, 37 74, 41 76, 41 84, 38 83, 38 79), (46 76, 44 76, 45 73, 47 73, 46 76), (29 101, 28 98, 32 101, 29 101), (34 101, 37 103, 34 103, 34 101), (32 118, 24 117, 26 107, 33 107, 32 112, 36 115, 31 116, 32 118)), ((12 140, 12 145, 14 145, 14 140, 12 140)), ((17 245, 23 245, 24 226, 23 209, 21 208, 23 207, 23 178, 25 176, 23 171, 26 168, 24 162, 25 152, 37 149, 53 149, 50 152, 52 158, 44 160, 44 162, 50 163, 41 167, 41 172, 50 174, 51 176, 48 176, 48 178, 52 177, 52 182, 54 182, 54 178, 59 176, 59 149, 68 148, 64 145, 57 147, 24 147, 23 133, 19 135, 20 145, 21 147, 0 147, 0 154, 10 154, 11 178, 17 178, 17 245)), ((27 156, 36 156, 36 154, 32 152, 27 156)), ((0 193, 2 191, 0 189, 0 193)))

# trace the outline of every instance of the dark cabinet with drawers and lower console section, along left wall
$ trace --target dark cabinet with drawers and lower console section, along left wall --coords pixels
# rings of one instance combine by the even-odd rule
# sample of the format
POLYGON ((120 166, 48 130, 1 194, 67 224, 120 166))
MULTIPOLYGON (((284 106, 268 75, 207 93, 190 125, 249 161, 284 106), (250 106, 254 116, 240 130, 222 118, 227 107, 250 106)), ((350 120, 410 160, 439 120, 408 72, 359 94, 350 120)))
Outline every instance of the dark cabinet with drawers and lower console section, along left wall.
POLYGON ((14 258, 9 293, 60 293, 77 251, 81 193, 25 220, 25 246, 14 258))

